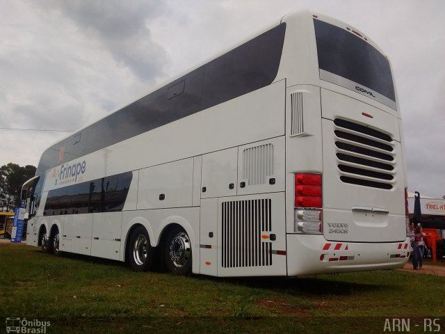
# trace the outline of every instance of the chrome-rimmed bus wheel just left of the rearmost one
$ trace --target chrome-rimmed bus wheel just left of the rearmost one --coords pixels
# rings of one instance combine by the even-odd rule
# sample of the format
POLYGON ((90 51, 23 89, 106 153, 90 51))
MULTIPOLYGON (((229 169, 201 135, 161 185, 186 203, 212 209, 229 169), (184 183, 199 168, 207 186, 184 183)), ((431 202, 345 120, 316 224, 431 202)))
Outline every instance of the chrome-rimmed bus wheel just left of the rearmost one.
POLYGON ((138 226, 131 234, 127 254, 129 266, 133 271, 152 269, 153 248, 150 245, 147 230, 143 226, 138 226))

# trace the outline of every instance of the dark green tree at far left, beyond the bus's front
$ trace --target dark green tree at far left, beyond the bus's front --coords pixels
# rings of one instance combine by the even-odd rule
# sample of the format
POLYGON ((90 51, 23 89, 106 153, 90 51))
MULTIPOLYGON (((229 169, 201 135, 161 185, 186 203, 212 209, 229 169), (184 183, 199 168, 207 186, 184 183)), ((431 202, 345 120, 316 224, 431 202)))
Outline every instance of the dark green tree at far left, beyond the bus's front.
POLYGON ((0 211, 13 211, 20 205, 20 193, 26 180, 35 175, 35 167, 10 162, 0 167, 0 211))

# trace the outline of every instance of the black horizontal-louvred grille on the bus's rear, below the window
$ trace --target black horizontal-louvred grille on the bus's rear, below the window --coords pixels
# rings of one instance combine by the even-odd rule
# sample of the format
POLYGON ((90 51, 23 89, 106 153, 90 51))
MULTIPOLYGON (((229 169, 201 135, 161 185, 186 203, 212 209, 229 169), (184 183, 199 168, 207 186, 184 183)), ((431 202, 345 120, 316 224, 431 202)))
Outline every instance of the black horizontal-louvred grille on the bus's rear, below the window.
POLYGON ((340 180, 392 189, 396 168, 391 136, 348 120, 336 119, 334 124, 340 180))

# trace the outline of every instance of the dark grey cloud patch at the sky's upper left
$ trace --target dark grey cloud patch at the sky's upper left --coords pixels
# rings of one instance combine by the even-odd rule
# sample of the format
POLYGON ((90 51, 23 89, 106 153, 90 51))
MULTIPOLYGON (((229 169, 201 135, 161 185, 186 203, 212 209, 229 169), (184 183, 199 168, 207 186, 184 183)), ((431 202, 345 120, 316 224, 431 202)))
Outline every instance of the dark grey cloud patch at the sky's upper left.
POLYGON ((43 1, 34 4, 49 13, 58 10, 86 37, 97 39, 119 65, 144 81, 163 77, 168 54, 152 40, 149 23, 165 12, 162 1, 43 1))

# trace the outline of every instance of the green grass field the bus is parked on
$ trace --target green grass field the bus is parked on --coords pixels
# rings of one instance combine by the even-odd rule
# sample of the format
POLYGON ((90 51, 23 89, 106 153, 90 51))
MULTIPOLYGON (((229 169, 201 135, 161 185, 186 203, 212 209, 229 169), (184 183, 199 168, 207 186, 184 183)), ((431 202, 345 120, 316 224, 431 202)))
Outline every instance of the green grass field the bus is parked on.
POLYGON ((389 317, 445 315, 445 278, 401 271, 178 277, 0 244, 0 284, 1 315, 48 319, 47 333, 380 333, 389 317))

